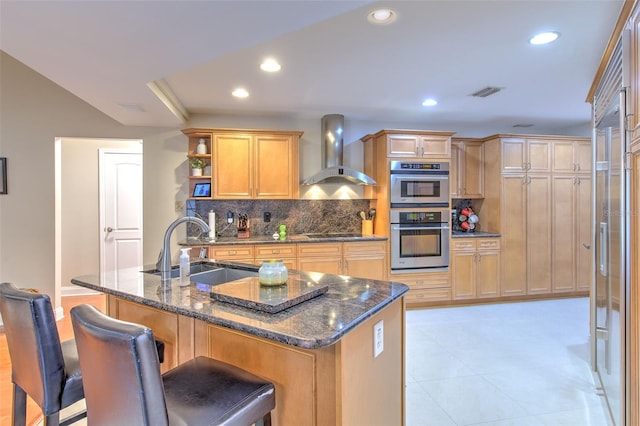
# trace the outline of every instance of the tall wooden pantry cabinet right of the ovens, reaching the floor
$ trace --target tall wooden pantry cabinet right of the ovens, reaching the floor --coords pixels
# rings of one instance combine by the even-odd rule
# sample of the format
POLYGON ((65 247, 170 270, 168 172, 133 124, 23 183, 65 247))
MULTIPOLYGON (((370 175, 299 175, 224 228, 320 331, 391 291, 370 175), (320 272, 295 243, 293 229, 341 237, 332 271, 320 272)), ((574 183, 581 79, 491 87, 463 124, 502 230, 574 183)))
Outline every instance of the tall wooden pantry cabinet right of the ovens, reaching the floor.
POLYGON ((483 228, 502 235, 501 296, 587 291, 589 139, 494 135, 485 158, 483 228))

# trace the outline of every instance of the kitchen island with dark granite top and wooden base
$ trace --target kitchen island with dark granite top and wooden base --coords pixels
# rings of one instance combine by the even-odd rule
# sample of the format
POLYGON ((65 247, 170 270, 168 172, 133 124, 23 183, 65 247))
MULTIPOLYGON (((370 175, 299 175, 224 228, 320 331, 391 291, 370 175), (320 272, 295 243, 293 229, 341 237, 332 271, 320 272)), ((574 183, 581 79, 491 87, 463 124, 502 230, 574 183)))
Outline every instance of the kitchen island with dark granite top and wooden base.
MULTIPOLYGON (((255 265, 206 266, 257 271, 255 265)), ((106 293, 107 313, 150 327, 165 343, 166 371, 205 355, 271 380, 275 425, 404 424, 404 284, 289 271, 325 294, 278 313, 210 297, 192 279, 120 270, 73 284, 106 293), (381 344, 374 347, 374 328, 381 344), (382 349, 377 356, 375 350, 382 349)))

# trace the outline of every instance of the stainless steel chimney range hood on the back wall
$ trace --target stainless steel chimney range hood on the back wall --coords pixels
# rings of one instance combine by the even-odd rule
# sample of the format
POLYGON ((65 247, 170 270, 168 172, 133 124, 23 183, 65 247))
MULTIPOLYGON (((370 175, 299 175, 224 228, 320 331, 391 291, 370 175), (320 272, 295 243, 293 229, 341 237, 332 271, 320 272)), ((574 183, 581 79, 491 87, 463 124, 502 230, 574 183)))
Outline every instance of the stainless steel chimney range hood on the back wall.
POLYGON ((351 182, 358 185, 375 185, 376 181, 362 172, 342 165, 344 115, 328 114, 322 117, 322 165, 319 173, 302 182, 315 185, 320 182, 351 182))

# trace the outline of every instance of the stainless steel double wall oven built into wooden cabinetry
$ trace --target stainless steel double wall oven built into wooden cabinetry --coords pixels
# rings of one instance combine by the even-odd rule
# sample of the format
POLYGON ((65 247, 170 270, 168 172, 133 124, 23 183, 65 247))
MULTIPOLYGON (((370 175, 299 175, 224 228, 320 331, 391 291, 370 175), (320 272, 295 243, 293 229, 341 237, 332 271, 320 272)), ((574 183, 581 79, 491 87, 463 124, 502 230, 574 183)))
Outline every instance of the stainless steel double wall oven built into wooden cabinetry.
POLYGON ((392 161, 391 272, 449 266, 449 163, 392 161))

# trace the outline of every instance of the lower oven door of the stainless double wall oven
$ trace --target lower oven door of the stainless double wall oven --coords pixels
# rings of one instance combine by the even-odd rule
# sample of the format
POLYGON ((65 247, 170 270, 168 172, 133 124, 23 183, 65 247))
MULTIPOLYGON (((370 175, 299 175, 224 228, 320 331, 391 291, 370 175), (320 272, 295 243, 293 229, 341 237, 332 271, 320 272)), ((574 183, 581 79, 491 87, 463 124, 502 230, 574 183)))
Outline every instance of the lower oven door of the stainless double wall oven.
POLYGON ((449 226, 391 224, 391 269, 449 266, 449 226))

